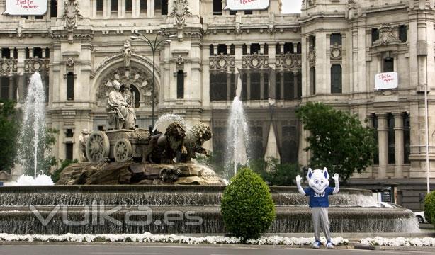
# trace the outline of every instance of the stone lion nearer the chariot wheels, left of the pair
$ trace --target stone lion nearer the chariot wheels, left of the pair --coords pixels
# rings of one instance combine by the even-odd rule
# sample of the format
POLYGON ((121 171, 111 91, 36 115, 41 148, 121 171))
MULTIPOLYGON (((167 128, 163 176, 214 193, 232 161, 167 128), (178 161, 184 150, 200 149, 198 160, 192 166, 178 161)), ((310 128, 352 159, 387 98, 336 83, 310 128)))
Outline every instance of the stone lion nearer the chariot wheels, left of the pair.
POLYGON ((184 137, 186 137, 186 130, 180 123, 169 124, 164 134, 151 137, 149 145, 143 154, 142 163, 173 164, 178 152, 181 152, 181 154, 187 153, 186 148, 183 146, 184 137))

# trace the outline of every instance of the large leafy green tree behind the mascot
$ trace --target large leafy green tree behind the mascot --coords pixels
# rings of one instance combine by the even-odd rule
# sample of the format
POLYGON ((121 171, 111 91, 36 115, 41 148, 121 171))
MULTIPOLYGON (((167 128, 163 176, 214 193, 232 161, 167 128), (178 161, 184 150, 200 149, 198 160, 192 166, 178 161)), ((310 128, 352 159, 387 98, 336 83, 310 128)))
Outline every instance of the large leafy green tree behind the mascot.
POLYGON ((354 171, 361 173, 373 163, 373 129, 364 127, 356 115, 324 103, 307 103, 296 115, 309 131, 305 151, 311 152, 311 167, 327 167, 329 174, 337 173, 347 181, 354 171))

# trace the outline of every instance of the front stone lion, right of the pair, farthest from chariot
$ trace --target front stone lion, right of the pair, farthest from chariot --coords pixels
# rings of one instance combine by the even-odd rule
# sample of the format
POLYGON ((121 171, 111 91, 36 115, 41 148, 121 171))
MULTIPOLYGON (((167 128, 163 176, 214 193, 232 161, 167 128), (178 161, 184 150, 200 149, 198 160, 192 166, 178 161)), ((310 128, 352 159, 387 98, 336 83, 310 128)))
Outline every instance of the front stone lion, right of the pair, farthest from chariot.
POLYGON ((208 125, 201 122, 193 125, 193 127, 187 131, 186 138, 184 139, 184 147, 186 147, 187 153, 181 154, 180 161, 183 163, 190 162, 192 158, 196 158, 196 153, 210 156, 210 152, 203 148, 204 142, 210 139, 211 130, 208 125))

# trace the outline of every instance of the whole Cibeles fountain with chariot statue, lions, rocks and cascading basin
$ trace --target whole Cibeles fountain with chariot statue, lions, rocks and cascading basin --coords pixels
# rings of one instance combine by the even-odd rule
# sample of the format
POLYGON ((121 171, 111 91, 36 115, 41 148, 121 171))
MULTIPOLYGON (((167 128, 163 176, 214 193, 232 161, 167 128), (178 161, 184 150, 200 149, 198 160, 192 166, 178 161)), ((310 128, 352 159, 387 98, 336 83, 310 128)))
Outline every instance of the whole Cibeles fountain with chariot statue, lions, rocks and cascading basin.
MULTIPOLYGON (((220 214, 225 182, 213 169, 192 160, 197 153, 210 153, 202 146, 212 136, 208 125, 187 125, 179 116, 164 115, 156 123, 165 126, 162 132, 153 129, 150 134, 136 127, 128 91, 120 91, 120 85, 113 81, 108 93, 110 130, 82 132, 83 162, 64 169, 55 186, 0 187, 1 232, 226 232, 220 214)), ((242 107, 237 98, 235 106, 242 107)), ((247 151, 244 142, 234 147, 247 151)), ((246 160, 231 152, 235 158, 230 161, 246 160)), ((271 186, 271 193, 276 220, 269 232, 312 232, 307 198, 297 188, 271 186)), ((412 212, 379 208, 371 191, 341 188, 330 204, 335 233, 418 231, 412 212)))

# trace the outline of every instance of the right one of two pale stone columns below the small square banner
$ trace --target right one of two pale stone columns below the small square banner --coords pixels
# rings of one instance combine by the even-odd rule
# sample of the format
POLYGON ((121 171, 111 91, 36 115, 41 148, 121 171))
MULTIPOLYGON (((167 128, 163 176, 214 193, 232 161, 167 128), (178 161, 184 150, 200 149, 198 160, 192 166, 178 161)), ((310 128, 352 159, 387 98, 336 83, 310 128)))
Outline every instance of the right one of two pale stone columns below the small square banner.
POLYGON ((394 137, 395 137, 395 158, 396 165, 394 171, 394 177, 402 178, 402 166, 404 162, 403 158, 403 113, 392 113, 394 116, 394 137))

